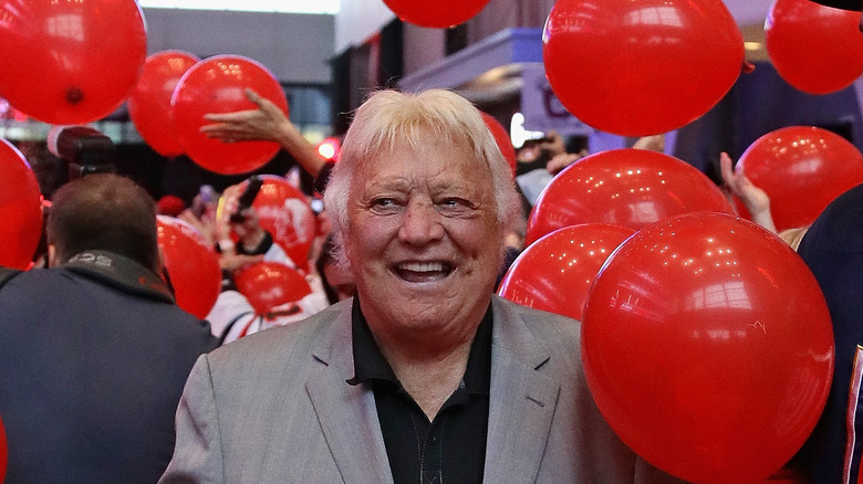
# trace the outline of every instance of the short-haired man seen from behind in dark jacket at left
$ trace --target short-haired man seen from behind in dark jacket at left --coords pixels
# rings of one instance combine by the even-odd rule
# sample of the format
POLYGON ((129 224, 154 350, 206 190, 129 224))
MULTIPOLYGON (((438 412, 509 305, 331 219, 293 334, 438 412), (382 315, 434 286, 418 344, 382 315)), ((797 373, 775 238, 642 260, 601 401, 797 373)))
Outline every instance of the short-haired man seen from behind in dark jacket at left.
POLYGON ((152 484, 196 358, 217 346, 159 276, 155 202, 100 173, 53 196, 49 269, 0 288, 7 483, 152 484))

